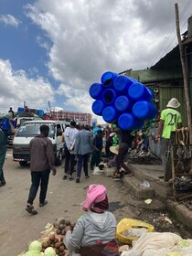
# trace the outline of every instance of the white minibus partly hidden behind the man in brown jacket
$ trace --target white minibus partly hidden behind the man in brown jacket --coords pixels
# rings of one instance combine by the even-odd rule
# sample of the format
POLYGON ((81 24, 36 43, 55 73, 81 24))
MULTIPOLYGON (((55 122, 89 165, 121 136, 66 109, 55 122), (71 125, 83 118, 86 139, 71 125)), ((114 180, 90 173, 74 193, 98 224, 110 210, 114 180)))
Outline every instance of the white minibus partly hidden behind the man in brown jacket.
POLYGON ((59 121, 52 120, 36 120, 22 123, 19 127, 13 142, 13 157, 14 161, 20 165, 27 165, 30 161, 29 143, 36 135, 40 134, 40 126, 47 124, 49 127, 48 138, 52 141, 53 151, 55 154, 56 165, 61 165, 63 158, 63 143, 62 133, 64 127, 59 121))

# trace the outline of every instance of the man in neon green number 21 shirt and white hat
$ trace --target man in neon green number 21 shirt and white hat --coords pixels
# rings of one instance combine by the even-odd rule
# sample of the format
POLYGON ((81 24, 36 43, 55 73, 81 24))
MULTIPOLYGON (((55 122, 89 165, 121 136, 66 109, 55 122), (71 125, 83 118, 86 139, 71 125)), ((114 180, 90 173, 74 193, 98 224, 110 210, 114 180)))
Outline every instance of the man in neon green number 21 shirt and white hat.
POLYGON ((160 157, 164 168, 167 162, 167 149, 170 143, 171 132, 174 132, 177 128, 182 127, 181 114, 180 112, 176 111, 179 106, 180 103, 176 100, 176 98, 172 98, 170 101, 168 101, 166 109, 161 112, 160 123, 157 135, 155 136, 156 143, 161 137, 160 157))

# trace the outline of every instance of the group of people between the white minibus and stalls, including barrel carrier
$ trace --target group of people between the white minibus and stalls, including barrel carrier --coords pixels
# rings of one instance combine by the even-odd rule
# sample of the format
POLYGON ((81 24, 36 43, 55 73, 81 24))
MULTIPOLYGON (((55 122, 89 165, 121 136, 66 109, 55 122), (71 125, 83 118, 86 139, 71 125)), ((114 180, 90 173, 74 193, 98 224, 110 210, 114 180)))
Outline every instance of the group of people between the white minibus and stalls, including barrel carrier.
POLYGON ((110 161, 113 160, 113 166, 116 167, 116 178, 121 177, 122 170, 123 175, 133 176, 124 163, 128 149, 132 146, 132 140, 131 131, 123 131, 115 123, 106 127, 101 127, 98 124, 91 129, 88 125, 77 125, 74 121, 70 122, 63 134, 65 151, 63 179, 69 177, 69 180, 73 180, 73 175, 76 173, 76 183, 80 183, 81 169, 83 168, 85 178, 89 178, 89 169, 93 171, 95 167, 99 167, 103 157, 105 162, 109 163, 109 167, 111 166, 110 161), (113 138, 115 138, 115 144, 113 138), (114 154, 113 147, 117 145, 118 152, 114 154), (77 172, 75 172, 76 165, 77 172))

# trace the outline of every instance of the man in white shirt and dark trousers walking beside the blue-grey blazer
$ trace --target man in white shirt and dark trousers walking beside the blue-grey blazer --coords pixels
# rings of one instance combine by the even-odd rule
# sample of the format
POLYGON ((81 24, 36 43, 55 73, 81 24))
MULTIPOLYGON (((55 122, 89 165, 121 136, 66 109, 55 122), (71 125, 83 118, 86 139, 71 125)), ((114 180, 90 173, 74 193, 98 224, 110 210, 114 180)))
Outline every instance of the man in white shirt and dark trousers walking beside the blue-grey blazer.
POLYGON ((69 180, 73 180, 72 173, 74 172, 75 166, 75 155, 74 155, 74 145, 77 134, 79 133, 76 128, 76 123, 74 121, 70 122, 70 126, 65 129, 65 166, 64 166, 64 176, 63 179, 67 179, 69 173, 69 180))

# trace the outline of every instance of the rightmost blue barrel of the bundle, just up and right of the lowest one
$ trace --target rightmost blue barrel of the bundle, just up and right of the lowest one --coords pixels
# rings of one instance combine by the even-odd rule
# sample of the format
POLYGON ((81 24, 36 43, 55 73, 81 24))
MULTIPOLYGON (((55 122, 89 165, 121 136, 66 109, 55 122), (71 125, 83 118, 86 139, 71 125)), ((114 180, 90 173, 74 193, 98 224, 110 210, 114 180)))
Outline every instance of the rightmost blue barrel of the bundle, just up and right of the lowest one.
POLYGON ((139 119, 154 119, 157 109, 154 104, 148 101, 138 101, 133 105, 133 115, 139 119))

